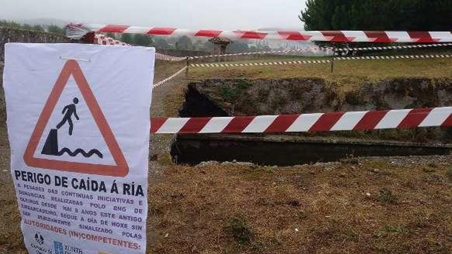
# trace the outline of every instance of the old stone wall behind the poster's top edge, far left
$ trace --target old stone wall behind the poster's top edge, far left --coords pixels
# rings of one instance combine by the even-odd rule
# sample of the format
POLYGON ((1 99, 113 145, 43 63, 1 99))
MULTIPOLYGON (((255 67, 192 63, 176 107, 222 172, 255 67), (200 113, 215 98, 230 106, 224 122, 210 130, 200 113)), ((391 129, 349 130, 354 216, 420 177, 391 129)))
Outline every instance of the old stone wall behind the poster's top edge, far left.
POLYGON ((66 36, 40 31, 16 29, 11 27, 0 27, 0 62, 4 61, 5 44, 10 42, 22 43, 66 43, 66 36))

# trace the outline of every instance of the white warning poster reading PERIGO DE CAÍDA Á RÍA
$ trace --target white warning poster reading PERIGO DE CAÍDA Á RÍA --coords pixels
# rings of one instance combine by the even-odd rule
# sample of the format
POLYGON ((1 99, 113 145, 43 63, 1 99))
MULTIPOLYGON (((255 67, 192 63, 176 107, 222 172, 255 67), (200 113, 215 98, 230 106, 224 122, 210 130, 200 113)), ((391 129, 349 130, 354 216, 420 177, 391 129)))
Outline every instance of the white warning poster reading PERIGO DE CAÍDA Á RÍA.
POLYGON ((7 44, 11 175, 29 253, 145 253, 155 51, 7 44))

